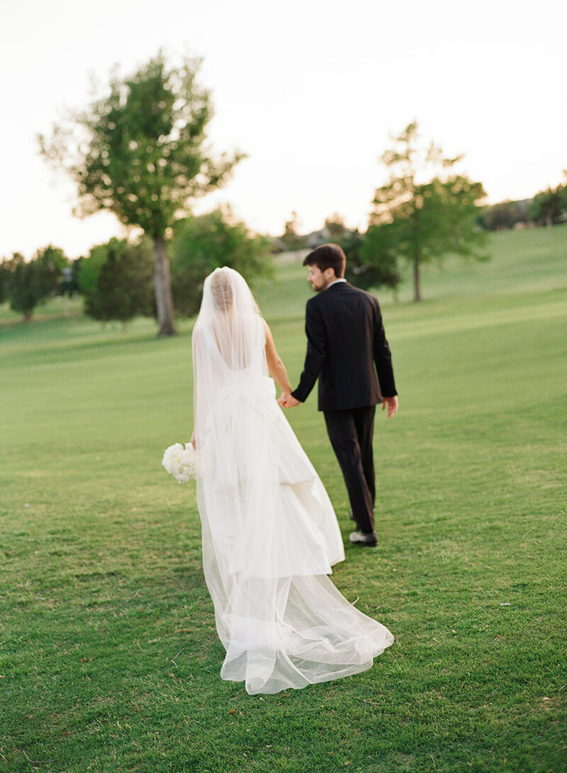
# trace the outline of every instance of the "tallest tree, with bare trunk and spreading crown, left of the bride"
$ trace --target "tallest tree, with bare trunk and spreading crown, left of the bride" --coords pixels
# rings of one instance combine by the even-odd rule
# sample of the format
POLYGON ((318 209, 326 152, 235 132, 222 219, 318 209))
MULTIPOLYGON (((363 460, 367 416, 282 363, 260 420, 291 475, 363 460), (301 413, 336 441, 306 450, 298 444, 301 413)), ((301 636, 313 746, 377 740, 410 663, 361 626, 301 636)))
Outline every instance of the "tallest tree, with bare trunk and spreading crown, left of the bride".
POLYGON ((168 229, 243 158, 213 158, 205 144, 212 105, 200 66, 186 58, 168 67, 159 53, 131 77, 111 77, 109 93, 55 124, 49 139, 39 136, 42 155, 76 183, 76 214, 109 210, 153 240, 158 335, 175 333, 168 229))

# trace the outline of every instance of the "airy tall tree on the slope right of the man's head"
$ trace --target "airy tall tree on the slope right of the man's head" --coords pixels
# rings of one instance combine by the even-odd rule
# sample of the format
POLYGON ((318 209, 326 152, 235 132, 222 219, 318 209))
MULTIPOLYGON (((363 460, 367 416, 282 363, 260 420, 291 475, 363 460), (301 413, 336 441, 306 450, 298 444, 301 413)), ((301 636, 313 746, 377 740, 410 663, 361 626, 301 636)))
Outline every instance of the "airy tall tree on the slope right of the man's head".
POLYGON ((423 264, 440 263, 447 254, 487 260, 480 250, 486 234, 477 226, 486 192, 480 182, 453 172, 461 156, 443 158, 433 143, 422 148, 415 122, 393 140, 396 147, 381 158, 392 174, 376 189, 366 252, 371 258, 372 247, 370 263, 392 265, 401 258, 411 264, 414 299, 420 301, 423 264))

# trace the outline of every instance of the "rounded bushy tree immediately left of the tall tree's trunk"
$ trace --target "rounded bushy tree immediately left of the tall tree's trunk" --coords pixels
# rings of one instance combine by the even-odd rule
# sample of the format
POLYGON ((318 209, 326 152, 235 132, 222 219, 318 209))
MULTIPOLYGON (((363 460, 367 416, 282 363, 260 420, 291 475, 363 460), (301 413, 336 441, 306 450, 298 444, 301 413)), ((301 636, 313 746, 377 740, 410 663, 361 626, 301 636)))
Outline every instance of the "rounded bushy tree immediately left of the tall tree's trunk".
POLYGON ((85 312, 101 322, 118 320, 124 325, 138 315, 154 315, 151 241, 138 243, 110 239, 93 247, 81 261, 79 286, 85 312))

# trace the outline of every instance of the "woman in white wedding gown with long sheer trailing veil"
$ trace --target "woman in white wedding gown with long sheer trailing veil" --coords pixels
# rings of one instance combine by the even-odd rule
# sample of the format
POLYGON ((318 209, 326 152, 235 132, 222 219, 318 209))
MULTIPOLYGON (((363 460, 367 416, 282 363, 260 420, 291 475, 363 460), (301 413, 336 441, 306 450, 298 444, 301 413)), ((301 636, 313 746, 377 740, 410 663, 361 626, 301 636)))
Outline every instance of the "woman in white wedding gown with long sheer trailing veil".
POLYGON ((226 649, 222 679, 253 695, 370 668, 394 638, 328 578, 345 558, 337 519, 277 405, 273 381, 291 391, 286 369, 237 271, 206 278, 192 349, 203 570, 226 649))

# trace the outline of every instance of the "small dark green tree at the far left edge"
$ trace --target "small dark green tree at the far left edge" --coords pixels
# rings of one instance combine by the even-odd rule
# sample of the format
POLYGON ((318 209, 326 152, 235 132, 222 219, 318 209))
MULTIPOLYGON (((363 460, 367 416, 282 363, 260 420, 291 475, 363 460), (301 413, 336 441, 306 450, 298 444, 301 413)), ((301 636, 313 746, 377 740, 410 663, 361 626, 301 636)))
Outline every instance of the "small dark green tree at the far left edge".
POLYGON ((2 284, 12 311, 22 312, 29 322, 36 306, 56 294, 68 264, 63 250, 51 245, 37 250, 31 261, 19 252, 2 261, 2 284))

